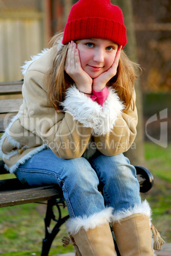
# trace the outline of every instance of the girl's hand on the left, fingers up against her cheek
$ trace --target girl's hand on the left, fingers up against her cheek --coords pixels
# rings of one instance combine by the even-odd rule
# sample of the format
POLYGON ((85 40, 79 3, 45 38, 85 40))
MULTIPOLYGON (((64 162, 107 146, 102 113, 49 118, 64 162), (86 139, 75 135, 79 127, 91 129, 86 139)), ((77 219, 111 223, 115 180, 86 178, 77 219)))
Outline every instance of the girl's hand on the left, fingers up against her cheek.
POLYGON ((78 90, 86 93, 92 93, 92 78, 81 68, 79 59, 79 51, 76 48, 76 43, 69 43, 69 50, 65 60, 65 72, 71 76, 76 83, 78 90))

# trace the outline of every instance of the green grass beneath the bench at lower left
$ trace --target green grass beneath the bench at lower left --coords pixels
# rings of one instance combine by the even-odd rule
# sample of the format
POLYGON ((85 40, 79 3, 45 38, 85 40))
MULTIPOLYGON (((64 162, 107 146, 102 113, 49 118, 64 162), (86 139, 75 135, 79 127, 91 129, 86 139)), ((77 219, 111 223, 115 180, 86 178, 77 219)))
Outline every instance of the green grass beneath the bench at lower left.
MULTIPOLYGON (((0 254, 2 255, 40 255, 44 238, 44 204, 24 204, 0 209, 0 254), (16 252, 16 254, 15 254, 16 252), (10 254, 11 253, 11 254, 10 254), (20 254, 19 254, 20 253, 20 254), (31 254, 36 253, 36 254, 31 254)), ((57 214, 55 212, 55 214, 57 214)), ((67 209, 62 215, 67 215, 67 209)), ((58 218, 58 217, 57 217, 58 218)), ((55 225, 51 225, 51 229, 55 225)), ((61 239, 67 236, 65 225, 53 241, 49 255, 72 252, 72 246, 62 247, 61 239)))

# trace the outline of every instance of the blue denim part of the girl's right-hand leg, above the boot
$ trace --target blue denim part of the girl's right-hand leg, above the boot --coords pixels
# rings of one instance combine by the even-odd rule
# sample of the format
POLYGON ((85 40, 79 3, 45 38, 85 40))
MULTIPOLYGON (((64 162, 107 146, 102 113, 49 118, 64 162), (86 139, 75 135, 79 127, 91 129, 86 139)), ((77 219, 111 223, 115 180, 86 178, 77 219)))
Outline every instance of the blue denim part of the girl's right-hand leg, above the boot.
POLYGON ((90 164, 102 184, 105 203, 114 208, 114 213, 141 204, 135 167, 123 154, 106 157, 99 153, 90 164))

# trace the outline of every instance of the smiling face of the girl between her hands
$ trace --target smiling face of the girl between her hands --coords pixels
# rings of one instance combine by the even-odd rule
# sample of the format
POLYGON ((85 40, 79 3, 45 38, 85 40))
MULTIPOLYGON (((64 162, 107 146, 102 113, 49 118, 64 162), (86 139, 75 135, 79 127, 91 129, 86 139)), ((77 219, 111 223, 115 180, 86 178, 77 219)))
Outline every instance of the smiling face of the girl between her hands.
POLYGON ((107 39, 83 39, 76 41, 79 50, 81 68, 91 77, 96 78, 111 68, 118 45, 107 39))

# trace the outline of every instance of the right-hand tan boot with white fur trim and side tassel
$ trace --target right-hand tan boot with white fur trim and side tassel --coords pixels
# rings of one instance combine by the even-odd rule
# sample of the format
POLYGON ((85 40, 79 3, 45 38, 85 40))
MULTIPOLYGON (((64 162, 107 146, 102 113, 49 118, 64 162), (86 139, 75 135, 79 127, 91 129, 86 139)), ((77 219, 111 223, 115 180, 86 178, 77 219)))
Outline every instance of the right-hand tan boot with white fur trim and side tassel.
POLYGON ((153 249, 159 250, 165 243, 150 219, 151 209, 147 201, 113 216, 113 232, 121 256, 152 256, 153 249))

